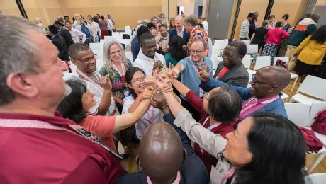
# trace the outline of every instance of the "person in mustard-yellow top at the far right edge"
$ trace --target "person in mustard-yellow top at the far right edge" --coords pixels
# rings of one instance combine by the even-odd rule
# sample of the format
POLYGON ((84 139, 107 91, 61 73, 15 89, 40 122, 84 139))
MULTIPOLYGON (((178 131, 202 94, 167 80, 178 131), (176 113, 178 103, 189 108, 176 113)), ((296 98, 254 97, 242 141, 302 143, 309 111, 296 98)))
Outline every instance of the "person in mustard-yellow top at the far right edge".
POLYGON ((322 25, 313 33, 305 38, 296 48, 293 56, 298 57, 294 71, 302 74, 301 82, 307 75, 313 74, 315 67, 322 64, 322 58, 326 52, 326 25, 322 25))

